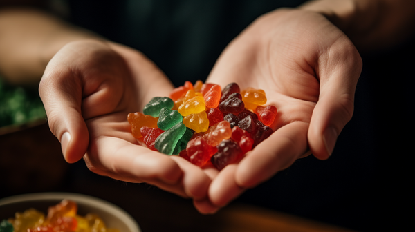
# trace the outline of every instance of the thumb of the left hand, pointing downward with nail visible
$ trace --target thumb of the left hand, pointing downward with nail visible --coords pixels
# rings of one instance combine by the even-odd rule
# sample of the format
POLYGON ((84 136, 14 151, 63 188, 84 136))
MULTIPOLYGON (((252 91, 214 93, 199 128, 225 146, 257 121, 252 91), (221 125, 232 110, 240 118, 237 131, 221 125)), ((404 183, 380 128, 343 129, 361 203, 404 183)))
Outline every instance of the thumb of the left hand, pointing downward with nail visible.
POLYGON ((89 133, 81 114, 82 81, 66 66, 50 62, 39 84, 50 131, 61 142, 66 162, 80 160, 89 144, 89 133))

